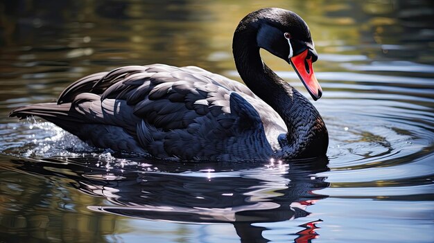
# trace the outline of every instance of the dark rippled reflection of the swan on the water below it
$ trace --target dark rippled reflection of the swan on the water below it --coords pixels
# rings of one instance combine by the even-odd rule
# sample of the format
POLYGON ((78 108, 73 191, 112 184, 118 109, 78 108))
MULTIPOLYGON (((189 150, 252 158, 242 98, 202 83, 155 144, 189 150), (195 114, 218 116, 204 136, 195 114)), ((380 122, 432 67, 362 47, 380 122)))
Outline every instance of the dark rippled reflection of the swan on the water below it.
MULTIPOLYGON (((132 162, 123 161, 111 169, 89 158, 14 162, 18 170, 66 178, 81 192, 110 201, 89 205, 89 210, 156 221, 230 223, 243 242, 268 241, 262 236, 265 228, 254 223, 306 217, 309 206, 327 197, 315 191, 329 186, 327 177, 316 175, 329 170, 327 158, 248 165, 128 161, 132 162)), ((312 225, 315 228, 315 222, 312 225)), ((300 232, 302 239, 317 235, 300 232)))

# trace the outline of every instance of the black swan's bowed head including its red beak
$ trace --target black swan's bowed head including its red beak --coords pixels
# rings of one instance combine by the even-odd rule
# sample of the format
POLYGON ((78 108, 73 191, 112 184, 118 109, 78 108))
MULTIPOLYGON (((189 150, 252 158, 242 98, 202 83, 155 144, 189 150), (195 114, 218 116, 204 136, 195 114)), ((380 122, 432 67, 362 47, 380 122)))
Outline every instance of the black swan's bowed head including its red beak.
POLYGON ((311 31, 295 12, 281 8, 263 8, 250 13, 242 22, 257 25, 257 45, 293 66, 313 100, 322 96, 322 89, 313 73, 318 60, 311 31), (250 22, 250 23, 249 23, 250 22))

